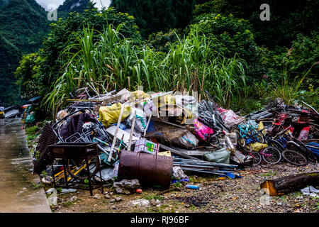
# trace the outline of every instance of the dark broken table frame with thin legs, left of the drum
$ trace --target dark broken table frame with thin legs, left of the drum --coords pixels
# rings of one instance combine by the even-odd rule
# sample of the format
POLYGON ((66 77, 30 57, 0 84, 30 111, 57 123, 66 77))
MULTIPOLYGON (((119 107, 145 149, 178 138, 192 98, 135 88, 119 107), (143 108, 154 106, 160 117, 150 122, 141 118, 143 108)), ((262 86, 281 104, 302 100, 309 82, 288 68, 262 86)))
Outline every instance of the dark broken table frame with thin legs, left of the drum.
POLYGON ((102 179, 97 143, 56 143, 50 145, 49 149, 52 158, 52 170, 54 160, 62 159, 65 175, 64 182, 59 184, 57 184, 55 175, 53 175, 54 187, 89 189, 91 196, 93 196, 93 189, 101 188, 103 193, 103 181, 100 180, 99 184, 94 183, 97 172, 102 179))

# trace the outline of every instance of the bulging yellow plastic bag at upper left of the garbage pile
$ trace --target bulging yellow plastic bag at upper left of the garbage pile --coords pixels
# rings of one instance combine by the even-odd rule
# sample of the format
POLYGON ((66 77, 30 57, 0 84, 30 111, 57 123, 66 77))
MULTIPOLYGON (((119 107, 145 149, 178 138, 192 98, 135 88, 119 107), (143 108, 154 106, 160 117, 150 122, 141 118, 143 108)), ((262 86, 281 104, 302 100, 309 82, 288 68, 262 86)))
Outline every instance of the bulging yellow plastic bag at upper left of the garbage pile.
MULTIPOLYGON (((121 103, 113 104, 112 106, 101 106, 99 109, 99 116, 101 122, 106 128, 113 123, 118 123, 118 117, 121 113, 121 103)), ((125 106, 121 121, 124 121, 130 115, 130 106, 125 106)))

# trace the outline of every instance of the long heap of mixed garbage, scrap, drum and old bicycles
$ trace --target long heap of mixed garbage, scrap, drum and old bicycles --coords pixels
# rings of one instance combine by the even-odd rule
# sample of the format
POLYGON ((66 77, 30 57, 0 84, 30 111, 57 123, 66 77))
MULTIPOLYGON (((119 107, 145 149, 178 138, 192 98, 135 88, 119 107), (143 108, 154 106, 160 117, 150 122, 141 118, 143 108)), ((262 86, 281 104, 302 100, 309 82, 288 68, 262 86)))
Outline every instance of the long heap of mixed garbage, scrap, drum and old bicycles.
POLYGON ((44 182, 50 183, 86 178, 116 182, 118 193, 129 194, 140 185, 165 189, 172 182, 188 182, 186 173, 235 178, 241 177, 238 170, 262 162, 318 161, 319 114, 308 104, 286 106, 276 99, 240 116, 206 95, 198 101, 174 92, 99 94, 93 85, 79 89, 43 131, 34 172, 46 170, 44 182), (98 156, 76 160, 82 148, 94 150, 92 144, 98 156), (52 157, 52 150, 63 149, 72 155, 52 157))

